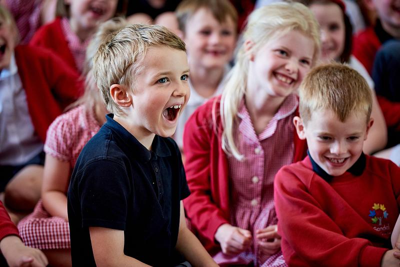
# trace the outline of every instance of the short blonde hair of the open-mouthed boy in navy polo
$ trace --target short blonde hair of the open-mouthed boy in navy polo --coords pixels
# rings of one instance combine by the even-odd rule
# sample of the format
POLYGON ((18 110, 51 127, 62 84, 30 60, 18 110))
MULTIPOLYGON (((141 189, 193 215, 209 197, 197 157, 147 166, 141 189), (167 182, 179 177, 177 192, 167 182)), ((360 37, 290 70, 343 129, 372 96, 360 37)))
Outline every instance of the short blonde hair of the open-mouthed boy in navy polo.
POLYGON ((133 89, 147 49, 157 46, 186 51, 184 42, 160 25, 125 26, 110 34, 100 44, 93 58, 93 74, 109 111, 122 114, 120 107, 111 98, 110 86, 121 84, 133 89))

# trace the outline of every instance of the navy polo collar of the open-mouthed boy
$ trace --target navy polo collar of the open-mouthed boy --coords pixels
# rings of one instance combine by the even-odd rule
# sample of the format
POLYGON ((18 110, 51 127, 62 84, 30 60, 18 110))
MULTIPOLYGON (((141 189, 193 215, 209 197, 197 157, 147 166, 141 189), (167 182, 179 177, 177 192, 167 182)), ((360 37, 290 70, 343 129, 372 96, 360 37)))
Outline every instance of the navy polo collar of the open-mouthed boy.
POLYGON ((168 149, 167 144, 162 137, 155 134, 154 140, 151 144, 152 150, 148 150, 144 145, 142 145, 136 137, 134 137, 128 130, 126 130, 121 124, 113 119, 114 115, 112 113, 107 114, 107 121, 105 126, 110 128, 114 133, 116 133, 119 138, 126 143, 126 153, 132 155, 137 160, 147 162, 151 159, 152 155, 156 156, 170 156, 171 152, 168 149))

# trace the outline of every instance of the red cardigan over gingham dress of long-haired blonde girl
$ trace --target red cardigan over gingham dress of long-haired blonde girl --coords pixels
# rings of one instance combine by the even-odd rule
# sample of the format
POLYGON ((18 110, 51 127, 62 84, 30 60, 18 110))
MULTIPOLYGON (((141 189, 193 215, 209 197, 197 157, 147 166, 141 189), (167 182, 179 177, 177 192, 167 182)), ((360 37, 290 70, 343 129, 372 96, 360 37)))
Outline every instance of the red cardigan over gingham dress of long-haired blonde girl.
MULTIPOLYGON (((229 223, 228 163, 221 146, 219 104, 220 96, 197 108, 183 134, 184 167, 191 192, 183 203, 194 231, 211 253, 220 250, 214 239, 217 228, 229 223)), ((293 162, 303 159, 306 149, 305 140, 294 131, 293 162)))

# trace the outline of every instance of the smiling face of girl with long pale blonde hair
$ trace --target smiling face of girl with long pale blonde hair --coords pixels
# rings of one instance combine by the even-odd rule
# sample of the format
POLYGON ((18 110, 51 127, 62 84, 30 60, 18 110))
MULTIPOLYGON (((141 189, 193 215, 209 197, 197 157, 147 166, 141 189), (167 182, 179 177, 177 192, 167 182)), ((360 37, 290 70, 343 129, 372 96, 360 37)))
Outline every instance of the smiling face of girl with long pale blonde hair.
POLYGON ((314 42, 297 30, 266 42, 249 54, 248 89, 266 89, 271 96, 286 97, 310 69, 313 54, 314 42))

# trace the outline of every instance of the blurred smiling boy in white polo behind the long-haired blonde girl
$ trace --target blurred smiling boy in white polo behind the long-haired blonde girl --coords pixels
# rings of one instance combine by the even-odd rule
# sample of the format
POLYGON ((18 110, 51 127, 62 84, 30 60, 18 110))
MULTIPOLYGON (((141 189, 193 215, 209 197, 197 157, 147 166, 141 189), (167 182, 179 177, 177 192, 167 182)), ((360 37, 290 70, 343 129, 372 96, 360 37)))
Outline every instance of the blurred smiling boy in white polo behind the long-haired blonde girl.
POLYGON ((182 148, 187 119, 207 99, 222 92, 222 80, 236 46, 237 12, 229 0, 183 0, 175 13, 190 68, 191 97, 174 134, 182 148))

